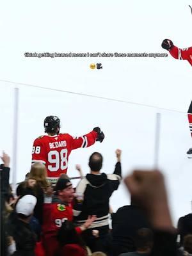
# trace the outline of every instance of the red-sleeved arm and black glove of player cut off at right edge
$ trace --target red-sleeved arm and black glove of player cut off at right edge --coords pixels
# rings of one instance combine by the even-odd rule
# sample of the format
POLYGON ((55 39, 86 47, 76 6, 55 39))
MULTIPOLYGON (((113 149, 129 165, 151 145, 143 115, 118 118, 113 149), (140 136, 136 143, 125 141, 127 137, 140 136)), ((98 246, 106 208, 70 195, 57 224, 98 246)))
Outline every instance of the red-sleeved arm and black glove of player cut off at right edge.
POLYGON ((178 60, 187 60, 192 66, 192 47, 180 49, 173 45, 173 42, 170 39, 164 39, 161 46, 163 49, 168 50, 173 58, 178 60))

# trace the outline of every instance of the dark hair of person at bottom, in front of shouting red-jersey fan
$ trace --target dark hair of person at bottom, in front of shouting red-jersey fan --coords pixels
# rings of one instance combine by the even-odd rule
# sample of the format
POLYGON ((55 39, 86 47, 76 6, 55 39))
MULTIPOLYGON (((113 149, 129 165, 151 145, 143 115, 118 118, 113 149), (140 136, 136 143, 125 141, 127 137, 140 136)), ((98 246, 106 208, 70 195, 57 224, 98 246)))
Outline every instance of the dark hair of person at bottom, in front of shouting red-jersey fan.
POLYGON ((72 221, 65 220, 62 223, 61 228, 58 230, 58 241, 61 246, 66 244, 79 244, 80 246, 84 246, 83 239, 76 232, 76 228, 72 221))

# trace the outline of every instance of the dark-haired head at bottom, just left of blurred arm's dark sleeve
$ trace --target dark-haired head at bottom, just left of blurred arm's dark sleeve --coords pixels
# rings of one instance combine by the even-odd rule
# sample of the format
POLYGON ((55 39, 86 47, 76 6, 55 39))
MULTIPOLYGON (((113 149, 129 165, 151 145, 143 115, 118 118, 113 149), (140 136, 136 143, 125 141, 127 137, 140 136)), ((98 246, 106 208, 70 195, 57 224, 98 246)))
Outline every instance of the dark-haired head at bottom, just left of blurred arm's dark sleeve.
POLYGON ((140 228, 135 237, 136 248, 152 248, 153 233, 149 228, 140 228))

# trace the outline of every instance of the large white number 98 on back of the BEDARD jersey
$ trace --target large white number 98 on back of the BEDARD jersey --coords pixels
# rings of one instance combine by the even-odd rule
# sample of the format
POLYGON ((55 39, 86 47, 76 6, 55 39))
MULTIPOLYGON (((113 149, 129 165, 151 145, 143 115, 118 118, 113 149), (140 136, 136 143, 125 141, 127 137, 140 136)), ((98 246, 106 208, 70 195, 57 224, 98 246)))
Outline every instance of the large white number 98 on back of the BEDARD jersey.
POLYGON ((48 162, 51 163, 48 165, 48 169, 51 172, 67 169, 67 148, 63 148, 60 152, 56 150, 49 151, 48 162))

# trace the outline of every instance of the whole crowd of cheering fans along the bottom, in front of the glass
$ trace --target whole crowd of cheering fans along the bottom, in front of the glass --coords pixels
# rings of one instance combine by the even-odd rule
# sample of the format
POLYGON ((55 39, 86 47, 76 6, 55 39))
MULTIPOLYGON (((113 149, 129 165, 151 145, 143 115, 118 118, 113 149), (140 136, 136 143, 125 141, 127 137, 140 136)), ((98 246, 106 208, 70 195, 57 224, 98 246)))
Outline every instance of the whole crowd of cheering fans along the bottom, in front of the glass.
POLYGON ((111 210, 109 198, 122 180, 121 153, 115 152, 112 174, 100 172, 99 152, 90 156, 85 177, 78 165, 81 180, 76 189, 67 174, 53 186, 45 164, 33 163, 15 196, 9 184, 10 157, 3 152, 1 255, 192 255, 192 213, 173 227, 164 177, 158 170, 134 170, 125 177, 131 205, 111 210))

